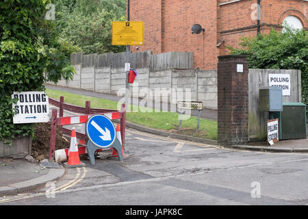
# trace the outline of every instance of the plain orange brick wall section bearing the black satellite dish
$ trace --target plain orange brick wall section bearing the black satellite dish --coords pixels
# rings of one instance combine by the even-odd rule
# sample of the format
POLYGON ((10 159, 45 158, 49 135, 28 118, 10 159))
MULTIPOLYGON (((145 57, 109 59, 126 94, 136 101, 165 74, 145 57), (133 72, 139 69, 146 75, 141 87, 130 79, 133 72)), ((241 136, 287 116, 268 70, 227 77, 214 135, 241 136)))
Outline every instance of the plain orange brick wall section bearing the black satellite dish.
POLYGON ((153 53, 193 51, 195 68, 216 69, 219 55, 216 48, 218 38, 216 1, 164 0, 163 2, 164 4, 157 0, 132 1, 131 21, 144 21, 146 27, 144 46, 140 46, 138 50, 136 47, 131 47, 131 50, 133 52, 152 50, 153 53), (149 8, 152 5, 154 8, 150 12, 149 8), (147 12, 144 12, 145 10, 147 12), (195 23, 206 29, 204 40, 203 33, 192 34, 192 25, 195 23), (157 42, 158 39, 160 42, 157 42))

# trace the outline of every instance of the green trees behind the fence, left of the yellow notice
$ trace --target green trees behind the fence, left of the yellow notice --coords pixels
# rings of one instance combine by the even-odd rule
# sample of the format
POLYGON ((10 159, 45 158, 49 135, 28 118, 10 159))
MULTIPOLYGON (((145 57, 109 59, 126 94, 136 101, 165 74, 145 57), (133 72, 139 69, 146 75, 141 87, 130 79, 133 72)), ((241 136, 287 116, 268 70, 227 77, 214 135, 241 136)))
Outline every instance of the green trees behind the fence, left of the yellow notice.
POLYGON ((67 44, 84 54, 125 51, 123 46, 112 46, 112 21, 126 21, 126 0, 54 0, 54 3, 55 28, 67 44))

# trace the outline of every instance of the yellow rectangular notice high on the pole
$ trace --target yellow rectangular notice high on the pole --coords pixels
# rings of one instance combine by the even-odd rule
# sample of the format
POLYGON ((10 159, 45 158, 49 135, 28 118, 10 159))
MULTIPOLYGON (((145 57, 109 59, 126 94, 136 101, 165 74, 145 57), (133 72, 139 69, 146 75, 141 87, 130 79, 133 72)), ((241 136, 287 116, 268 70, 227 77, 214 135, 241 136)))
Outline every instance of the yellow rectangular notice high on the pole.
POLYGON ((114 21, 112 22, 113 45, 143 45, 143 21, 114 21))

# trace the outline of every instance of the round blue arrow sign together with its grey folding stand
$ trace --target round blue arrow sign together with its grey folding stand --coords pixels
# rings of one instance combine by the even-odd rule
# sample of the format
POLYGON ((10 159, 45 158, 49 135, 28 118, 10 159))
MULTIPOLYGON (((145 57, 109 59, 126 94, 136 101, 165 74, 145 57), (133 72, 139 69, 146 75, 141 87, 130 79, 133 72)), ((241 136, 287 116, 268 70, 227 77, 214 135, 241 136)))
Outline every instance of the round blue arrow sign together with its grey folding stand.
POLYGON ((94 153, 97 149, 114 148, 120 161, 123 153, 120 141, 116 138, 116 129, 112 121, 103 115, 94 115, 86 123, 86 133, 89 138, 87 149, 91 164, 95 164, 94 153))

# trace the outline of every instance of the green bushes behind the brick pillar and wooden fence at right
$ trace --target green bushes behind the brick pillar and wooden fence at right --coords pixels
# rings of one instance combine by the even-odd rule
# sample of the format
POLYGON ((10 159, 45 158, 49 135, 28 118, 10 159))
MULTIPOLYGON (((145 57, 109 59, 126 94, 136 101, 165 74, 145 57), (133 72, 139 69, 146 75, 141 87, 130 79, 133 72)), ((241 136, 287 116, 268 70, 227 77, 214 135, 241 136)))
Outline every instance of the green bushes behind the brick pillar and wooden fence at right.
POLYGON ((308 105, 308 35, 304 29, 274 29, 257 38, 242 38, 240 48, 229 47, 231 54, 247 55, 249 68, 300 69, 302 101, 308 105))

